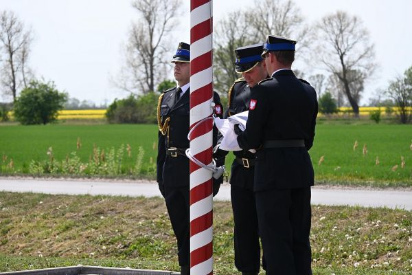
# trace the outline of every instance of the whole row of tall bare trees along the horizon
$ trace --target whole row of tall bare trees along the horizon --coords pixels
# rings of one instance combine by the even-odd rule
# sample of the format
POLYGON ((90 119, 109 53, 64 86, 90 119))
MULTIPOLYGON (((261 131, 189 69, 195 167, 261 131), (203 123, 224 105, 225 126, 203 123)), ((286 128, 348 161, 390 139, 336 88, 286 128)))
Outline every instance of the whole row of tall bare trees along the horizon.
MULTIPOLYGON (((131 6, 137 12, 137 21, 130 26, 124 50, 126 63, 112 83, 137 99, 159 92, 155 87, 165 83, 171 69, 170 56, 179 42, 172 31, 179 25, 183 11, 181 0, 133 0, 131 6)), ((261 43, 267 34, 296 39, 297 61, 303 62, 294 68, 295 74, 314 86, 319 99, 329 93, 337 106, 349 104, 358 116, 365 85, 377 68, 374 43, 367 28, 359 17, 343 11, 309 24, 293 0, 255 0, 247 9, 232 10, 216 22, 214 89, 222 98, 239 77, 233 66, 234 50, 261 43), (311 67, 322 68, 324 74, 310 74, 311 67)), ((0 11, 0 89, 14 102, 19 91, 34 80, 27 65, 32 40, 31 28, 25 27, 14 12, 0 11)), ((412 104, 410 70, 378 95, 406 110, 402 122, 411 120, 411 113, 407 112, 412 104)))

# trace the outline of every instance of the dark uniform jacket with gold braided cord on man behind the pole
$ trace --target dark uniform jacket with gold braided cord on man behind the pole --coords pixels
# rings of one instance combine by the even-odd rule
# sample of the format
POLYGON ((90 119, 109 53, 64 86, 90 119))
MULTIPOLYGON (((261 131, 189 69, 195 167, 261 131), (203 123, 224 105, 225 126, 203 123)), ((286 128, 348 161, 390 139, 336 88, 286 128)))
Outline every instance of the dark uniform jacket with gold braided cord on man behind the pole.
MULTIPOLYGON (((222 117, 222 104, 216 92, 214 93, 214 113, 222 117)), ((165 135, 159 131, 158 153, 157 153, 157 182, 165 186, 189 186, 190 172, 189 159, 185 155, 171 157, 166 154, 166 149, 176 147, 187 149, 190 146, 187 134, 190 127, 190 89, 176 102, 176 87, 168 89, 163 93, 159 102, 159 115, 163 124, 167 118, 168 131, 165 135)), ((213 144, 217 142, 218 130, 214 127, 213 144)), ((222 177, 220 179, 222 181, 222 177)))

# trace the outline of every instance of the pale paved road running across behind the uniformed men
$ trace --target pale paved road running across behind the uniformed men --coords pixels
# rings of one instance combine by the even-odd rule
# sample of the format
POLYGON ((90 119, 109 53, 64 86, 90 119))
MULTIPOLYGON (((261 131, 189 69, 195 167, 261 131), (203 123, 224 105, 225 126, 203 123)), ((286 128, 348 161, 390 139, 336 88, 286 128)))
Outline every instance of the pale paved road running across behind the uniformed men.
MULTIPOLYGON (((12 192, 38 192, 67 195, 118 195, 130 197, 161 196, 157 184, 153 181, 119 182, 119 181, 84 181, 56 179, 1 179, 0 190, 12 192)), ((230 186, 220 188, 217 200, 230 200, 230 186)), ((412 210, 412 191, 402 190, 365 190, 312 188, 312 204, 350 205, 412 210)))

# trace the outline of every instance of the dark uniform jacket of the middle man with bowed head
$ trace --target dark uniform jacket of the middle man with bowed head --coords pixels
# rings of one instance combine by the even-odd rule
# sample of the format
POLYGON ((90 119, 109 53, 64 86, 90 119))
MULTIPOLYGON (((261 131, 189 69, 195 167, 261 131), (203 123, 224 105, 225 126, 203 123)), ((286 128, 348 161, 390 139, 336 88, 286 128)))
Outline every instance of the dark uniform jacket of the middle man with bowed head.
MULTIPOLYGON (((235 83, 233 83, 233 86, 229 90, 228 96, 229 106, 227 107, 223 118, 229 118, 231 115, 236 115, 236 113, 242 113, 243 111, 247 111, 249 109, 251 88, 243 78, 239 78, 235 83)), ((235 151, 233 154, 240 158, 255 158, 255 154, 247 150, 235 151)), ((236 159, 233 159, 230 184, 232 186, 253 190, 253 170, 254 166, 244 168, 244 166, 239 164, 236 159)))

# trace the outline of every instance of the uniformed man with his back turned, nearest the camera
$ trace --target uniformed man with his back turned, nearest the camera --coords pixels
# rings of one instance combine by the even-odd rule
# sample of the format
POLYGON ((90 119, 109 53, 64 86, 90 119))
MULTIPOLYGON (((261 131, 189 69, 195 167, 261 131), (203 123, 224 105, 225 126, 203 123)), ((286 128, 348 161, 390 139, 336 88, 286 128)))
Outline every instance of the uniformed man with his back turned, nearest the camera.
POLYGON ((269 35, 264 62, 272 77, 251 89, 241 148, 256 148, 254 191, 266 274, 312 274, 310 186, 318 104, 314 89, 290 69, 296 41, 269 35))

